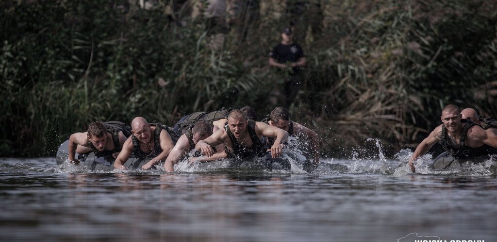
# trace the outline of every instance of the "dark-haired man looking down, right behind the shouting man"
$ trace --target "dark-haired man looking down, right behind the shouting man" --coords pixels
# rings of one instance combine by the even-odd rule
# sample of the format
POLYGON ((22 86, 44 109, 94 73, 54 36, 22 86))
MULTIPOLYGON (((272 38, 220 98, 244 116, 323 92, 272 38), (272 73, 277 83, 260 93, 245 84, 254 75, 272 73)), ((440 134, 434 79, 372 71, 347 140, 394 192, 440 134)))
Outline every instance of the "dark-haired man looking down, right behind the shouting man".
MULTIPOLYGON (((289 136, 295 136, 298 138, 302 138, 301 142, 303 144, 308 144, 305 148, 304 151, 311 154, 313 157, 313 166, 316 168, 319 165, 319 140, 318 140, 318 134, 314 132, 313 130, 307 128, 306 126, 291 121, 290 120, 290 114, 285 108, 275 108, 273 111, 271 111, 271 114, 269 115, 269 120, 267 123, 271 126, 275 126, 277 128, 281 128, 285 131, 288 132, 289 136)), ((269 144, 271 145, 273 142, 273 139, 268 138, 267 139, 269 144)))

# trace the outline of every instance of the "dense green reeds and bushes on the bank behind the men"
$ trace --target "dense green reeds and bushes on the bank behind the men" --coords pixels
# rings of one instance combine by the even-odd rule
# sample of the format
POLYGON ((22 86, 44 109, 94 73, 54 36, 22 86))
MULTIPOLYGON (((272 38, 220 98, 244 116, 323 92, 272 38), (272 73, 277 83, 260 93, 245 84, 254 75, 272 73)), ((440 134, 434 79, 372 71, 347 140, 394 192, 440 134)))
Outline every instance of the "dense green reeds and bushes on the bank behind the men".
MULTIPOLYGON (((267 58, 289 22, 276 3, 261 2, 259 17, 232 25, 218 49, 202 14, 180 26, 166 5, 26 2, 0 2, 0 156, 53 155, 94 120, 140 115, 172 125, 195 111, 250 105, 262 116, 274 108, 267 97, 283 77, 267 58)), ((305 7, 322 14, 296 25, 307 28, 297 31, 308 63, 290 112, 320 134, 328 153, 371 137, 392 150, 419 142, 448 103, 497 117, 488 85, 497 81, 495 2, 305 7)))

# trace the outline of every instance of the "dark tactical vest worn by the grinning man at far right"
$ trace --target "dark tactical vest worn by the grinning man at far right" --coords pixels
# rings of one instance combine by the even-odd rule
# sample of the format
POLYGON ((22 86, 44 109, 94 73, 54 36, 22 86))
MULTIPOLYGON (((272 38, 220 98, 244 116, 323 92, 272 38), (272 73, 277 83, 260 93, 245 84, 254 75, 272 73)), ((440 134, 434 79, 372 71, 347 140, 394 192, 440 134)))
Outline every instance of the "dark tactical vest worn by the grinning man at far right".
POLYGON ((454 158, 468 158, 468 157, 474 157, 474 156, 481 156, 481 155, 486 155, 490 154, 492 152, 495 152, 495 149, 489 145, 482 145, 478 148, 471 148, 466 146, 466 136, 468 133, 468 130, 472 127, 478 125, 475 122, 472 122, 470 120, 467 120, 466 123, 463 126, 463 130, 461 132, 461 139, 459 141, 459 147, 453 147, 450 144, 453 142, 450 142, 451 139, 447 135, 447 129, 445 128, 445 125, 442 125, 442 138, 438 143, 440 143, 443 147, 444 150, 447 151, 451 156, 454 158))

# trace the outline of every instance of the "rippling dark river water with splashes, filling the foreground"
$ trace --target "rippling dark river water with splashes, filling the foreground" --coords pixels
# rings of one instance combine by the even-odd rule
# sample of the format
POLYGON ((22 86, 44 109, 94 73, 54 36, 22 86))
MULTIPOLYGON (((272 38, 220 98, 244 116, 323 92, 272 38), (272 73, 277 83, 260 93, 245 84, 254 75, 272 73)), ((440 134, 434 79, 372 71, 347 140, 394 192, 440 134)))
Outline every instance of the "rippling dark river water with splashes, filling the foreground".
POLYGON ((410 154, 324 158, 311 174, 0 159, 0 240, 496 241, 495 161, 435 172, 423 157, 412 174, 410 154))

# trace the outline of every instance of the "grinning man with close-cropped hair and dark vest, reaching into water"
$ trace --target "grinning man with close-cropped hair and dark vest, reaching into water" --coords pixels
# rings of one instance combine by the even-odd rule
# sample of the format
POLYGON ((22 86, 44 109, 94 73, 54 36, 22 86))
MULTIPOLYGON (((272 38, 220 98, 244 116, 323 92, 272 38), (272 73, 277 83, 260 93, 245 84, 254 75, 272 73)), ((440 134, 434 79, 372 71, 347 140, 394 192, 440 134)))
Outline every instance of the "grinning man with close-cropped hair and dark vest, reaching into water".
POLYGON ((439 142, 455 158, 484 155, 496 151, 497 135, 474 122, 461 123, 461 112, 456 105, 445 106, 440 119, 442 124, 419 143, 409 160, 408 165, 413 172, 415 172, 413 161, 424 155, 436 142, 439 142))

